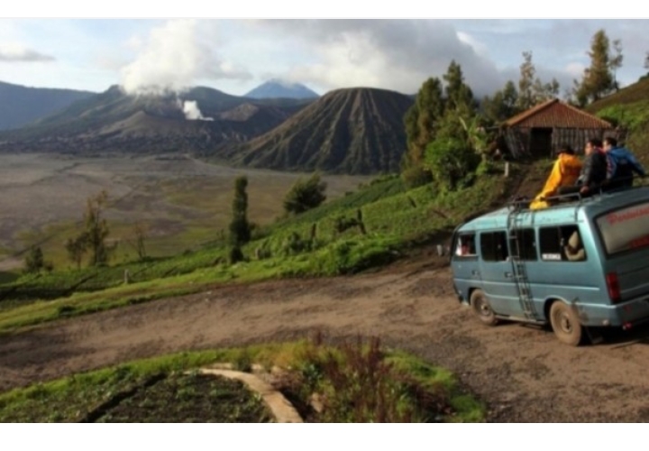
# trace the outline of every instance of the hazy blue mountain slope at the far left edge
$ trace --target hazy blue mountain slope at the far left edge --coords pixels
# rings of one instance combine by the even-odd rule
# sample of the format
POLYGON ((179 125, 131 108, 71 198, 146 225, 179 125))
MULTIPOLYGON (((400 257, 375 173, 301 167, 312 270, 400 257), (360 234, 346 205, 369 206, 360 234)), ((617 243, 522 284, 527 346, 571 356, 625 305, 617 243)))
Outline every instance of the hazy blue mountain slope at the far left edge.
POLYGON ((21 127, 94 95, 88 91, 24 87, 0 81, 0 130, 21 127))

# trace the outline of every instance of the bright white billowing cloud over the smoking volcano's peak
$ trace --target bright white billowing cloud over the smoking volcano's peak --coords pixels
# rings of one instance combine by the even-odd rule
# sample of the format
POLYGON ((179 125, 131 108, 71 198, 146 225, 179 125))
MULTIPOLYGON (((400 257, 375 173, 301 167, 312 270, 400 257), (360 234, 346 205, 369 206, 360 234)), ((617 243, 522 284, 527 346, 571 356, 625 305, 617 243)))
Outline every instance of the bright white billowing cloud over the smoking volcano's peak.
POLYGON ((130 94, 181 91, 199 79, 248 79, 251 74, 213 51, 209 29, 195 20, 173 20, 153 28, 137 59, 122 69, 122 86, 130 94))

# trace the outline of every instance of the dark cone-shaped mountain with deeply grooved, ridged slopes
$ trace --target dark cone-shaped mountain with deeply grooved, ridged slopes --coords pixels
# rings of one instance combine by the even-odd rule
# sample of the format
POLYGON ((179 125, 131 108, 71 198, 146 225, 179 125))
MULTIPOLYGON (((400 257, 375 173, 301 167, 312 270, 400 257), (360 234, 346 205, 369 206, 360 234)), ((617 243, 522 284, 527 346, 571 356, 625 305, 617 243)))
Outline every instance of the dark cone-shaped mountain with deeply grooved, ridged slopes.
POLYGON ((370 174, 397 171, 411 97, 375 88, 331 91, 268 133, 220 156, 275 170, 370 174))

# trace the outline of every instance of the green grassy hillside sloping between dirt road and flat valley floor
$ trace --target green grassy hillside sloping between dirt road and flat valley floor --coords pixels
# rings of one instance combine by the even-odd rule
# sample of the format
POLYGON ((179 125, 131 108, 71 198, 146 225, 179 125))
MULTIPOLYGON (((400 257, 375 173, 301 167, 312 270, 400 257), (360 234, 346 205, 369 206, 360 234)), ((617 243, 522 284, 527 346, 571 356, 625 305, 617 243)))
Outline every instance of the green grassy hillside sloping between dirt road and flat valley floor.
POLYGON ((254 231, 230 264, 225 239, 171 258, 23 275, 0 284, 0 330, 121 305, 206 290, 232 281, 360 272, 407 255, 424 243, 444 244, 466 216, 498 207, 517 189, 502 167, 469 189, 406 190, 400 179, 375 183, 300 216, 254 231), (54 300, 48 300, 54 299, 54 300))

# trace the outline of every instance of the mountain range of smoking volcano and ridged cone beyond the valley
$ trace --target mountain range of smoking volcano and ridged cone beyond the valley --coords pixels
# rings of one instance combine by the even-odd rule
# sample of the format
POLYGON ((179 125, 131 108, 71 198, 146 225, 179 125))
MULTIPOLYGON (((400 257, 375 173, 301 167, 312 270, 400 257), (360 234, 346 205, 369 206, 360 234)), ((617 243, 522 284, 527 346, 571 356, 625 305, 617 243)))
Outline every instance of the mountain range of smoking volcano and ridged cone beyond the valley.
POLYGON ((387 172, 398 170, 405 151, 403 116, 412 103, 362 87, 251 98, 211 87, 129 96, 113 86, 0 132, 0 152, 181 152, 275 170, 387 172))

